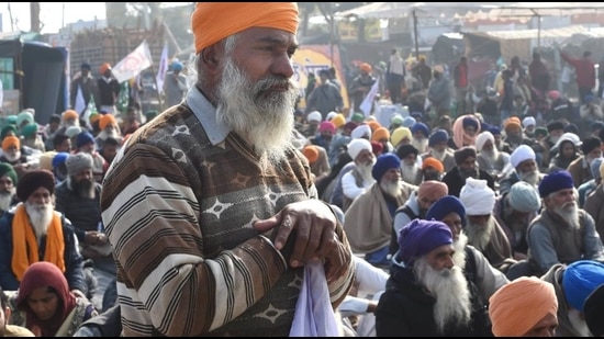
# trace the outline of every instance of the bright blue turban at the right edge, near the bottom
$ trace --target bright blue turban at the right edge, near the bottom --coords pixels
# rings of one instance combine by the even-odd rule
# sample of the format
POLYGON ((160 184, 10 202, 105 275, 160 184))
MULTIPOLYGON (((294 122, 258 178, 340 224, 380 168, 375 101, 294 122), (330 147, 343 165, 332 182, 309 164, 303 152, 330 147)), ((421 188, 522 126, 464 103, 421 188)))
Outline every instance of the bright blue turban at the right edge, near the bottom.
POLYGON ((579 260, 562 273, 562 290, 572 308, 583 312, 588 296, 604 284, 604 264, 595 260, 579 260))

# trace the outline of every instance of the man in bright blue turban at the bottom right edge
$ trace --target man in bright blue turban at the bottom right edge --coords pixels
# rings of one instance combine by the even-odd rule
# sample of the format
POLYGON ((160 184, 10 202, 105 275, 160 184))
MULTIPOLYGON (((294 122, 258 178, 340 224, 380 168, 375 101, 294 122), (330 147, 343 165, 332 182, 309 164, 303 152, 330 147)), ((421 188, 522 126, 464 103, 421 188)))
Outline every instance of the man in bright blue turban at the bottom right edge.
MULTIPOLYGON (((585 302, 604 284, 604 264, 589 259, 557 263, 540 279, 553 285, 558 298, 556 337, 593 337, 585 321, 585 302)), ((602 314, 599 319, 602 323, 602 314)))

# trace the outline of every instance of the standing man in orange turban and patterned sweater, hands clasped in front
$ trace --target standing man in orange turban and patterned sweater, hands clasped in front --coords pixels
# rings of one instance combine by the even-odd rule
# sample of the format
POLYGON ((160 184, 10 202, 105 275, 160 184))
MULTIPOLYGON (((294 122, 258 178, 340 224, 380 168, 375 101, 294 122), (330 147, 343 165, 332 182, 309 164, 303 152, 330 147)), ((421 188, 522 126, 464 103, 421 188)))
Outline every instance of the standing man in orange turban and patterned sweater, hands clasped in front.
POLYGON ((195 83, 103 181, 122 335, 289 336, 310 262, 333 308, 348 294, 342 214, 291 144, 298 22, 295 2, 197 2, 195 83))

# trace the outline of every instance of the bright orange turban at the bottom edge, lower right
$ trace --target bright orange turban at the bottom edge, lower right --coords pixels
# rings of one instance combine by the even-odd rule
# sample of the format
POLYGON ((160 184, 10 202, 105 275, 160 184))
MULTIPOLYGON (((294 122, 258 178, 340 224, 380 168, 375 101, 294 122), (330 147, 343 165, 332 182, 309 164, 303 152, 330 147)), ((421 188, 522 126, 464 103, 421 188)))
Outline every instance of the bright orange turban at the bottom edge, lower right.
POLYGON ((547 314, 557 313, 553 285, 537 276, 513 280, 489 300, 489 317, 495 337, 522 337, 547 314))

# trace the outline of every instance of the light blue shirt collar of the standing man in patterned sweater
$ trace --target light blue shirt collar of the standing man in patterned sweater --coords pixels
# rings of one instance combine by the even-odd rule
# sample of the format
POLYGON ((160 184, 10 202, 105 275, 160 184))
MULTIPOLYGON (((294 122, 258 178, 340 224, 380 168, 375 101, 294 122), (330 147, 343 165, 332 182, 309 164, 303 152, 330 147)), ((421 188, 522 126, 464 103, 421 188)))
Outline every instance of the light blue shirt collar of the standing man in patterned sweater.
POLYGON ((213 146, 226 139, 231 131, 216 122, 216 108, 205 99, 195 86, 191 87, 187 93, 187 105, 193 111, 213 146))

